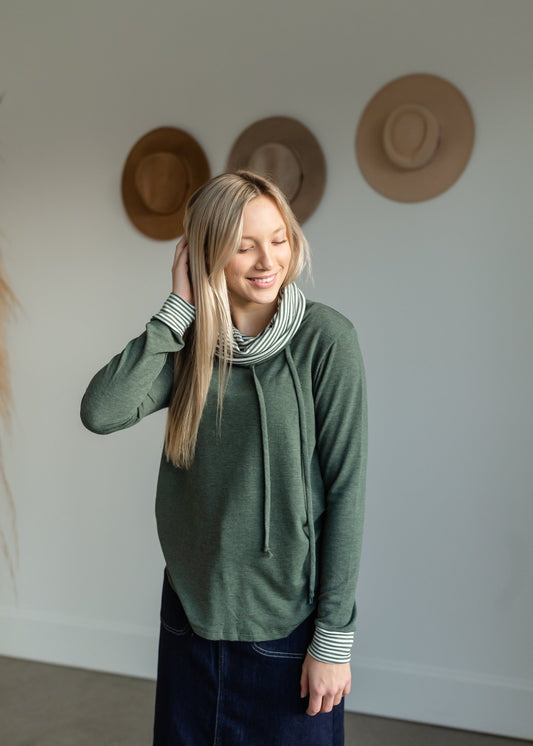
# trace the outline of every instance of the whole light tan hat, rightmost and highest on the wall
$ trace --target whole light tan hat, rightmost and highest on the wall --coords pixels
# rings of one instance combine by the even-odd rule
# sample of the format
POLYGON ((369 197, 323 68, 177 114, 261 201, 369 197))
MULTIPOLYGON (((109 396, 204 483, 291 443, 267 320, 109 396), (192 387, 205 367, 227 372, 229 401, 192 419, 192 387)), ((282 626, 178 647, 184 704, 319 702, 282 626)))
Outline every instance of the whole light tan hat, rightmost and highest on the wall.
POLYGON ((369 101, 355 149, 363 176, 398 202, 421 202, 461 175, 474 144, 474 119, 463 94, 435 75, 396 78, 369 101))

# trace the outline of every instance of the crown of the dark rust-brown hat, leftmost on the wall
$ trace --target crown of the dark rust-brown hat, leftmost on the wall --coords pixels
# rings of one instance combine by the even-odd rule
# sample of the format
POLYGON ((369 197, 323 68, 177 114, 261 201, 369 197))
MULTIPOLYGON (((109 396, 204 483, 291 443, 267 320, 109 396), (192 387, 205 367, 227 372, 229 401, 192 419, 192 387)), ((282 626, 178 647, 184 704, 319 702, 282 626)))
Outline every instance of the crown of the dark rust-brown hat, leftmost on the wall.
POLYGON ((174 153, 145 155, 135 169, 135 187, 150 212, 171 215, 184 202, 189 189, 187 166, 174 153))

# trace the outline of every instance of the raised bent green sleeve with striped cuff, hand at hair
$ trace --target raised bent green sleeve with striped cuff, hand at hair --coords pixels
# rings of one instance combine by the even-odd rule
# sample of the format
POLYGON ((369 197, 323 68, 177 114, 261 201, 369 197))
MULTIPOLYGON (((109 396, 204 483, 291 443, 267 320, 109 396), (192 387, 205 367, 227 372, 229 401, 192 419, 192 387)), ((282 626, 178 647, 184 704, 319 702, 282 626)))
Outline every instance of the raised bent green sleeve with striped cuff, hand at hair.
POLYGON ((183 348, 183 334, 194 318, 190 312, 181 321, 173 321, 169 301, 172 313, 171 297, 146 325, 146 330, 91 380, 80 412, 89 430, 107 434, 131 427, 168 405, 174 367, 172 353, 183 348))

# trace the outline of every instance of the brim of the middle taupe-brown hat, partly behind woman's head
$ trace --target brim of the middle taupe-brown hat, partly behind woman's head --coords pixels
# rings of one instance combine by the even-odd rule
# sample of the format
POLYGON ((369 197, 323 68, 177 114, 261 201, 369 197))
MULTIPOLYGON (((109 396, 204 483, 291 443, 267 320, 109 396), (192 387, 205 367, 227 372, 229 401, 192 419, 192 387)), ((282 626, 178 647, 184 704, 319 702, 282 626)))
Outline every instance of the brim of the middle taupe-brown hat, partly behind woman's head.
POLYGON ((237 138, 227 160, 228 171, 248 169, 255 151, 267 143, 289 148, 300 166, 301 186, 290 201, 300 223, 316 210, 326 186, 326 160, 318 140, 301 122, 290 117, 268 117, 251 124, 237 138))

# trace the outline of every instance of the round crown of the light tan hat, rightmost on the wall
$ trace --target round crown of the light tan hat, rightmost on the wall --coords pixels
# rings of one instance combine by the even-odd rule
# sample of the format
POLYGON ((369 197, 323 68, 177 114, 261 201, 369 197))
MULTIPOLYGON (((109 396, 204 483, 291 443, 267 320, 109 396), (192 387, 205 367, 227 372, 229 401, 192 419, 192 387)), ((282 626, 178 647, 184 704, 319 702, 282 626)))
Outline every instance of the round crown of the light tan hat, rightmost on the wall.
POLYGON ((389 160, 402 169, 425 166, 440 142, 440 125, 422 104, 403 104, 388 115, 383 127, 383 148, 389 160))

